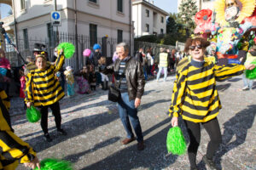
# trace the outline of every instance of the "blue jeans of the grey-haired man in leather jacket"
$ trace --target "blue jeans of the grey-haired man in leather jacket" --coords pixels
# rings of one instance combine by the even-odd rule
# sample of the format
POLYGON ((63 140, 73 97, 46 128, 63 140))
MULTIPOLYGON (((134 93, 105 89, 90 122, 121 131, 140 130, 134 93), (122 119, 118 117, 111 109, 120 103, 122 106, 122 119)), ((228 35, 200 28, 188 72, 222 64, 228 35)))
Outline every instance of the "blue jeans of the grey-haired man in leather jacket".
POLYGON ((131 125, 137 135, 137 142, 143 141, 143 132, 141 123, 137 116, 137 108, 134 105, 135 100, 129 100, 128 93, 121 94, 121 99, 118 101, 119 105, 119 116, 125 127, 127 138, 131 139, 134 137, 132 133, 131 125), (131 123, 130 123, 131 122, 131 123))

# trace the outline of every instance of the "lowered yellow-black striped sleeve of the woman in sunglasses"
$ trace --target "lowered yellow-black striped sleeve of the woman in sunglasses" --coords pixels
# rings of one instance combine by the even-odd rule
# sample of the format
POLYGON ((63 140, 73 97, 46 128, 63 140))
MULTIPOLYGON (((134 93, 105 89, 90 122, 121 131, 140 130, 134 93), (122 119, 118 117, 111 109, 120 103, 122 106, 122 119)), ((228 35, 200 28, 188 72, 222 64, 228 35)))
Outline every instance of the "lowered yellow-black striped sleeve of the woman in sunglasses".
POLYGON ((179 114, 182 114, 180 106, 183 104, 185 97, 186 81, 187 77, 183 75, 183 72, 178 72, 176 81, 173 84, 172 104, 169 109, 169 116, 173 114, 173 116, 177 117, 179 114))

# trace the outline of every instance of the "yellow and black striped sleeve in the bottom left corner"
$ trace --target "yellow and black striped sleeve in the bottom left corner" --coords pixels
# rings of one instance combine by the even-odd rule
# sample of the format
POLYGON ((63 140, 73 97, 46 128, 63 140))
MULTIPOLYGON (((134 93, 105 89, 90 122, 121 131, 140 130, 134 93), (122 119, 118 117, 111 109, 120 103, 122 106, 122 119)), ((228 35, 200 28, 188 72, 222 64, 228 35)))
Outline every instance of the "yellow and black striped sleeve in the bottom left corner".
POLYGON ((2 156, 9 161, 20 160, 20 163, 26 163, 36 156, 32 147, 11 131, 0 131, 0 147, 3 150, 2 156))

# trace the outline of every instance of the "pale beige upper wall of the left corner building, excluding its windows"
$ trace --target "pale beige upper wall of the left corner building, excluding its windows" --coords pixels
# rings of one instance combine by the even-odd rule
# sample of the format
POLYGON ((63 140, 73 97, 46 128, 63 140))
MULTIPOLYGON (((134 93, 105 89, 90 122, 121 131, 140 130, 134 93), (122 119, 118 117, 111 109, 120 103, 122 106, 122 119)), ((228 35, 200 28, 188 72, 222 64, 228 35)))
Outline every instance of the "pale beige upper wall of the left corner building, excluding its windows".
MULTIPOLYGON (((26 8, 20 10, 20 1, 15 1, 18 37, 23 37, 27 29, 28 37, 47 37, 47 24, 50 23, 50 12, 54 10, 53 0, 26 0, 26 8)), ((57 9, 61 11, 59 31, 74 33, 74 1, 57 0, 57 9)), ((99 0, 90 3, 88 0, 77 0, 78 34, 89 36, 89 26, 97 25, 97 36, 117 38, 117 30, 123 31, 123 39, 130 39, 129 1, 124 0, 123 13, 117 11, 117 1, 99 0)), ((14 26, 13 26, 14 27, 14 26)), ((133 28, 131 28, 132 32, 133 28)), ((132 34, 131 34, 132 35, 132 34)))

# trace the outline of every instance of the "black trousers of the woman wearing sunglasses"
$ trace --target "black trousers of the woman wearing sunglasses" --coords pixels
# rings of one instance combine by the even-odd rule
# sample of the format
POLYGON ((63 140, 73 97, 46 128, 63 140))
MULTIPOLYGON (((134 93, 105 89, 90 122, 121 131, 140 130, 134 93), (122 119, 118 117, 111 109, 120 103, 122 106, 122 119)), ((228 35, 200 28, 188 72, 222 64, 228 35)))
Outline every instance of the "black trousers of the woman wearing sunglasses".
MULTIPOLYGON (((190 144, 188 148, 189 162, 191 167, 196 167, 196 153, 200 144, 201 129, 200 123, 184 121, 188 129, 190 144)), ((214 118, 209 122, 202 122, 203 127, 207 130, 210 136, 210 142, 207 146, 207 158, 212 159, 212 156, 218 150, 218 145, 221 143, 221 133, 218 125, 218 119, 214 118)))

